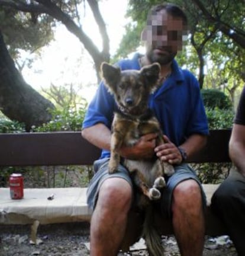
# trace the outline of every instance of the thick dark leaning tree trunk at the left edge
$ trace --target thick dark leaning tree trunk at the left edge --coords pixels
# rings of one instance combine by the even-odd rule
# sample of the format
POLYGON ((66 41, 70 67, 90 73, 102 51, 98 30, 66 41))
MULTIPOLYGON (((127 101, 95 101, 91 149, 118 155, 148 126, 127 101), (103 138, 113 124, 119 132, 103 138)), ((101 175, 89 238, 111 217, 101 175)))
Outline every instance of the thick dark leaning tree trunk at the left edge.
POLYGON ((15 68, 0 31, 0 110, 30 130, 51 119, 49 108, 54 105, 28 85, 15 68))

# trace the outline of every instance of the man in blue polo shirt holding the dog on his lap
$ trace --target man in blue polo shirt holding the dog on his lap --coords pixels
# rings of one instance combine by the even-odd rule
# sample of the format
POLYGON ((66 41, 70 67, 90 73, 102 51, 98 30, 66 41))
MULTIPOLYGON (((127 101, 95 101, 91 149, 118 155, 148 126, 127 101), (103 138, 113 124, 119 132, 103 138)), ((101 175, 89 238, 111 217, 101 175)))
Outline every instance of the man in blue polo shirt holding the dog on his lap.
MULTIPOLYGON (((160 121, 166 143, 155 145, 155 134, 142 136, 135 146, 120 151, 122 157, 150 158, 154 153, 175 166, 163 191, 163 213, 169 216, 182 256, 200 256, 204 247, 205 195, 194 171, 183 162, 199 151, 208 135, 207 117, 199 85, 189 71, 175 61, 186 35, 187 20, 172 4, 151 9, 142 39, 146 55, 121 60, 121 69, 140 69, 159 62, 161 86, 151 95, 149 107, 160 121), (179 147, 179 148, 178 148, 179 147)), ((114 98, 100 84, 83 122, 82 136, 102 149, 95 162, 95 176, 88 188, 88 204, 94 209, 91 219, 91 255, 117 255, 124 238, 128 213, 134 200, 132 182, 122 165, 108 174, 111 122, 117 106, 114 98)))

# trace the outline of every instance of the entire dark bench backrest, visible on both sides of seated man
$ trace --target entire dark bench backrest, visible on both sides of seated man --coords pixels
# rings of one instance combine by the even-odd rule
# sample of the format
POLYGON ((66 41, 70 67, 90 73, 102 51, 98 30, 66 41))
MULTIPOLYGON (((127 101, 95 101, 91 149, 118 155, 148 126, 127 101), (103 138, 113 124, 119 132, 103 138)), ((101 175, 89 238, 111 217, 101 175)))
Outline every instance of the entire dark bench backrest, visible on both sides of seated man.
MULTIPOLYGON (((207 146, 189 162, 230 162, 230 133, 211 130, 207 146)), ((99 155, 80 132, 0 134, 0 166, 91 165, 99 155)))

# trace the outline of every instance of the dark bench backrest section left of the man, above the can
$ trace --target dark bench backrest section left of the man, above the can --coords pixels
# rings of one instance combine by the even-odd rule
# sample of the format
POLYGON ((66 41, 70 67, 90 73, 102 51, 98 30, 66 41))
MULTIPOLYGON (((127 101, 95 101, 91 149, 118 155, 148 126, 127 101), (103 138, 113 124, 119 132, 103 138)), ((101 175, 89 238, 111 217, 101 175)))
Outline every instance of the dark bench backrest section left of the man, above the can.
POLYGON ((100 150, 80 132, 0 134, 0 165, 90 165, 100 150))

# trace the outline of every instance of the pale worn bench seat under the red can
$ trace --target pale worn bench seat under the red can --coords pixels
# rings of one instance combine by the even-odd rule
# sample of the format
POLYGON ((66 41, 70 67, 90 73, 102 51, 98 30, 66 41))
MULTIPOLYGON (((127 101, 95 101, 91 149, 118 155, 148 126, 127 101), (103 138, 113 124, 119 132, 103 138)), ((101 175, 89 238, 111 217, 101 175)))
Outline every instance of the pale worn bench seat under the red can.
MULTIPOLYGON (((209 204, 212 194, 218 185, 204 184, 207 196, 207 234, 220 235, 224 228, 220 221, 212 215, 209 204)), ((1 224, 32 224, 38 220, 40 224, 89 222, 91 210, 86 204, 87 188, 25 188, 24 199, 12 200, 9 188, 0 188, 0 223, 1 224), (47 198, 54 195, 53 200, 47 198)), ((157 221, 161 233, 172 233, 172 227, 166 220, 157 221)))

